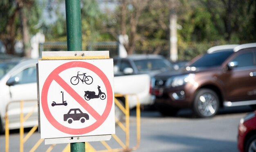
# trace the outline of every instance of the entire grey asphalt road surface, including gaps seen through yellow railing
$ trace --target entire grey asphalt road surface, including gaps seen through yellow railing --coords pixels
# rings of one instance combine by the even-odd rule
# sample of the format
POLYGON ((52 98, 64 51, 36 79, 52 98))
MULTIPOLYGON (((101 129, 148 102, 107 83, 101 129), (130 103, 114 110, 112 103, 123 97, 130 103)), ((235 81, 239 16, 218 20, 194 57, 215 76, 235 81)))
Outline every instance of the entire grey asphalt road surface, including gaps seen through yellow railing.
MULTIPOLYGON (((237 133, 240 118, 253 110, 235 107, 220 110, 213 118, 194 118, 190 110, 182 110, 175 117, 163 117, 157 111, 141 111, 141 140, 136 152, 238 152, 237 133)), ((26 130, 28 132, 28 130, 26 130)), ((116 134, 124 142, 124 132, 116 127, 116 134)), ((0 152, 5 150, 4 134, 0 135, 0 152)), ((33 134, 24 145, 28 152, 40 138, 33 134)), ((113 139, 112 148, 121 148, 113 139)), ((90 142, 96 150, 103 150, 100 142, 90 142)), ((67 144, 57 144, 52 151, 60 152, 67 144)), ((130 112, 130 147, 136 145, 135 111, 130 112)), ((18 130, 10 132, 10 152, 19 151, 18 130)), ((36 151, 46 151, 43 143, 36 151)))

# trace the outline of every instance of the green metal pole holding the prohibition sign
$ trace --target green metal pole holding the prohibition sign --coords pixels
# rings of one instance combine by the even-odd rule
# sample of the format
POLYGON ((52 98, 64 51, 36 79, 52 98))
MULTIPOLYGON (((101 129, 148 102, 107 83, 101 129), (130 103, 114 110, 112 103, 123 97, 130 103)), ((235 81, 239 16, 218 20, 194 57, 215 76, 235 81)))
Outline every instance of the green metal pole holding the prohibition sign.
MULTIPOLYGON (((67 51, 82 50, 80 0, 65 0, 67 51)), ((70 152, 85 152, 85 143, 70 143, 70 152)))

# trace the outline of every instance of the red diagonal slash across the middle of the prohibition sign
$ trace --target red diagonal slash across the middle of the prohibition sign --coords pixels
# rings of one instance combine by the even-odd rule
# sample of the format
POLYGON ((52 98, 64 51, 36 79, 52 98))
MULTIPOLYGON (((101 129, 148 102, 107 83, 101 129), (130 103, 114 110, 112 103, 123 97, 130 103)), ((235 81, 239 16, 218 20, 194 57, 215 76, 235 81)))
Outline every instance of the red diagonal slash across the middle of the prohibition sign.
POLYGON ((77 94, 70 85, 68 85, 59 75, 54 78, 65 91, 72 96, 85 110, 87 110, 96 120, 100 119, 100 115, 96 112, 79 94, 77 94))

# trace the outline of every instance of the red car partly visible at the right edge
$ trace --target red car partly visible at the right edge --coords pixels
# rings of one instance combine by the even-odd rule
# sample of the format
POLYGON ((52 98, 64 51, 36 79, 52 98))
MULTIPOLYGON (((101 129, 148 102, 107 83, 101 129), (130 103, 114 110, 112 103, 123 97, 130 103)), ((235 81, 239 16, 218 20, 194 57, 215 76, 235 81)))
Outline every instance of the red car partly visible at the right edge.
POLYGON ((240 120, 238 149, 240 152, 256 152, 256 111, 240 120))

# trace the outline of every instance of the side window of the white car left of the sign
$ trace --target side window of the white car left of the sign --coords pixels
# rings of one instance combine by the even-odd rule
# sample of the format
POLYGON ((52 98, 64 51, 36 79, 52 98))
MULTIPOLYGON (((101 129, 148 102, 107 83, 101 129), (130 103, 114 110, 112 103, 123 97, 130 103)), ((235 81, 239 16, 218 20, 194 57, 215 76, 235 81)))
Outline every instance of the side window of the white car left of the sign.
POLYGON ((36 67, 29 67, 24 69, 14 77, 19 78, 19 84, 36 83, 36 67))

